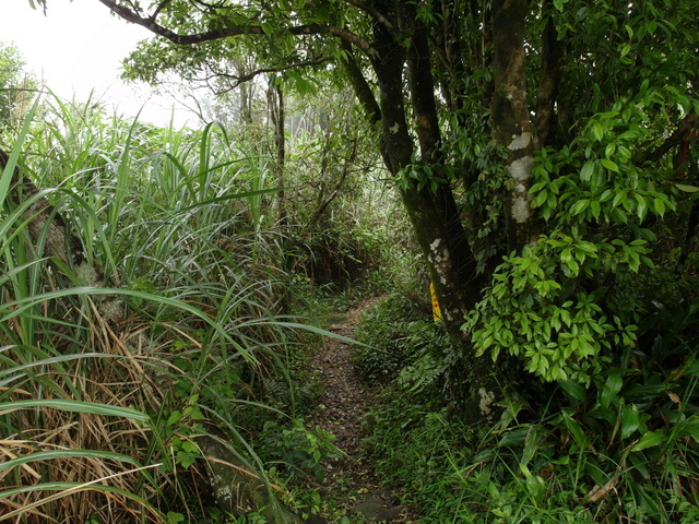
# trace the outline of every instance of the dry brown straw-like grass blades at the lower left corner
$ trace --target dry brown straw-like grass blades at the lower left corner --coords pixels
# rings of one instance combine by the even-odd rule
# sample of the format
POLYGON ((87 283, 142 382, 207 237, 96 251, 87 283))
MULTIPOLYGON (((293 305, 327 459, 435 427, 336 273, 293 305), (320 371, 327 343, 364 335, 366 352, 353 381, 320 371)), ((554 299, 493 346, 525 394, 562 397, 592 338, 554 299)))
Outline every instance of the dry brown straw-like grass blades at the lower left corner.
MULTIPOLYGON (((144 325, 137 323, 123 324, 117 334, 98 314, 93 314, 88 342, 83 349, 114 357, 75 359, 62 369, 48 367, 16 384, 5 400, 11 402, 27 396, 68 398, 157 409, 162 392, 153 377, 156 369, 153 361, 159 359, 155 354, 157 348, 142 341, 145 330, 144 325), (39 384, 50 384, 50 388, 39 384), (79 392, 79 398, 74 392, 79 392)), ((0 471, 3 491, 37 486, 36 490, 1 497, 0 514, 9 515, 24 508, 15 522, 25 524, 82 523, 94 515, 110 523, 157 521, 156 514, 143 511, 141 504, 125 495, 140 492, 144 496, 150 492, 152 497, 146 499, 157 495, 156 486, 143 483, 143 468, 152 466, 134 467, 146 456, 150 429, 127 418, 46 407, 15 410, 8 417, 15 432, 0 441, 0 457, 4 461, 37 452, 58 453, 47 460, 0 471), (99 453, 71 456, 70 452, 75 450, 119 453, 131 457, 132 463, 99 456, 99 453), (39 484, 47 481, 76 483, 78 486, 56 492, 38 489, 39 484), (97 486, 103 483, 108 483, 116 490, 97 486)))

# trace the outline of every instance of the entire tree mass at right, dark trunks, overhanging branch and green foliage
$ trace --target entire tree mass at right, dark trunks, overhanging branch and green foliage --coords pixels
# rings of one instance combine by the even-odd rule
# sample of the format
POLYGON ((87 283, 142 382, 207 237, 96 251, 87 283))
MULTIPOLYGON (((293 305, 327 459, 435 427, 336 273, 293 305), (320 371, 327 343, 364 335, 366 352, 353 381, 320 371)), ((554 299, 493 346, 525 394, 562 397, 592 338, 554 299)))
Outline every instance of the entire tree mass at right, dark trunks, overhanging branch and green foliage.
POLYGON ((694 2, 99 1, 156 36, 128 59, 134 78, 352 85, 474 417, 497 396, 501 353, 588 383, 602 355, 633 343, 642 306, 628 278, 653 263, 651 226, 668 211, 687 225, 694 209, 694 2))

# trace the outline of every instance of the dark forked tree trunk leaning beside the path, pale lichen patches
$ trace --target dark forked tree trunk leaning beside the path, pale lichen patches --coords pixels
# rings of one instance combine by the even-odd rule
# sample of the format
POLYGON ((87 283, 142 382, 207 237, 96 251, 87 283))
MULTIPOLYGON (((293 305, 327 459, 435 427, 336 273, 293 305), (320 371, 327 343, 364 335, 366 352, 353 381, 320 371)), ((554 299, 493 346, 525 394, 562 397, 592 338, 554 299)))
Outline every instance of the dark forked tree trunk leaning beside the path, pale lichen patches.
MULTIPOLYGON (((413 140, 410 135, 403 97, 403 69, 408 66, 408 90, 423 163, 439 168, 440 133, 430 73, 427 32, 415 22, 412 8, 401 5, 403 22, 410 25, 412 41, 407 52, 382 27, 375 32, 372 57, 380 93, 380 116, 383 158, 389 171, 398 177, 413 162, 413 140)), ((362 83, 353 80, 355 90, 362 83)), ((366 91, 357 93, 366 99, 366 91)), ((360 98, 362 99, 362 98, 360 98)), ((371 104, 363 102, 365 107, 371 104)), ((376 115, 376 111, 374 111, 376 115)), ((459 400, 466 420, 475 422, 491 413, 499 396, 489 357, 477 357, 470 338, 461 330, 464 317, 481 297, 484 278, 476 273, 476 262, 466 238, 451 188, 429 184, 408 186, 401 196, 413 225, 416 240, 425 255, 442 312, 442 321, 458 352, 462 367, 450 379, 450 390, 459 400)))

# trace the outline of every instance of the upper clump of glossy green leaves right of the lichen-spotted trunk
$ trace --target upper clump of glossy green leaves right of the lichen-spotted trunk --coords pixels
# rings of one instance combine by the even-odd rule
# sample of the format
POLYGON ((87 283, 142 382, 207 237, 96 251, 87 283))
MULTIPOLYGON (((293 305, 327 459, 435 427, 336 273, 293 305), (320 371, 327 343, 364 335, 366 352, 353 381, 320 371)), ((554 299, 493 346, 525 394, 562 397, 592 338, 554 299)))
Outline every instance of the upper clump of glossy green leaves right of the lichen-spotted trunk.
POLYGON ((623 227, 674 211, 655 169, 632 159, 638 144, 652 138, 644 119, 638 109, 601 114, 570 147, 542 151, 533 171, 532 206, 546 221, 623 227))

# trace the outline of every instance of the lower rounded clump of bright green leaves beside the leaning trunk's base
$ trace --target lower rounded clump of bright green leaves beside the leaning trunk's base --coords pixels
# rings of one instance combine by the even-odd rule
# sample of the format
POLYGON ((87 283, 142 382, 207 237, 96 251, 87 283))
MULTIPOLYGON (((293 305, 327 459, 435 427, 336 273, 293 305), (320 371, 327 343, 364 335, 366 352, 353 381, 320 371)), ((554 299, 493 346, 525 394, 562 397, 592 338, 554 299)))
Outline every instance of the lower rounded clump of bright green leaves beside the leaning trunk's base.
POLYGON ((479 354, 496 359, 508 352, 546 381, 589 383, 605 350, 633 344, 636 326, 623 312, 603 310, 604 289, 589 293, 580 282, 637 272, 651 264, 647 252, 644 240, 593 243, 578 228, 543 236, 521 257, 505 259, 464 327, 479 354))

